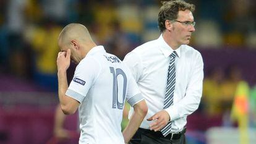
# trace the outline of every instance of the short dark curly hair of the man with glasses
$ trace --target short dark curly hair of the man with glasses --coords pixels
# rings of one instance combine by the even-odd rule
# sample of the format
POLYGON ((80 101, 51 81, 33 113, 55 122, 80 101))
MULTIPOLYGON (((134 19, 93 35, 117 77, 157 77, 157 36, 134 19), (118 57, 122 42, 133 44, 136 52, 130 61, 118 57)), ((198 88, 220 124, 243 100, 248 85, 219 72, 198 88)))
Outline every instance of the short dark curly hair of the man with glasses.
POLYGON ((179 11, 189 10, 194 12, 195 5, 190 4, 183 0, 174 0, 174 1, 162 1, 163 6, 160 7, 158 13, 158 27, 161 32, 163 32, 165 28, 166 20, 176 20, 177 14, 179 11))

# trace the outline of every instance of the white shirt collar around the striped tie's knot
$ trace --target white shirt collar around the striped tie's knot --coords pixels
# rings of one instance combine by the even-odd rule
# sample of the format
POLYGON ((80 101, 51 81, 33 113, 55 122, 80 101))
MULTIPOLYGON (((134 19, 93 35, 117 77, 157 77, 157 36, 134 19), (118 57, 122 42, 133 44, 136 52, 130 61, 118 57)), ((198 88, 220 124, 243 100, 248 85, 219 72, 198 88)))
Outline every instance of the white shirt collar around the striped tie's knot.
MULTIPOLYGON (((169 46, 166 43, 166 41, 164 41, 163 35, 160 35, 160 37, 158 38, 158 41, 160 41, 160 49, 164 54, 164 56, 169 57, 174 50, 171 48, 171 46, 169 46)), ((179 46, 179 48, 177 48, 175 51, 177 53, 177 57, 181 58, 181 46, 179 46)))

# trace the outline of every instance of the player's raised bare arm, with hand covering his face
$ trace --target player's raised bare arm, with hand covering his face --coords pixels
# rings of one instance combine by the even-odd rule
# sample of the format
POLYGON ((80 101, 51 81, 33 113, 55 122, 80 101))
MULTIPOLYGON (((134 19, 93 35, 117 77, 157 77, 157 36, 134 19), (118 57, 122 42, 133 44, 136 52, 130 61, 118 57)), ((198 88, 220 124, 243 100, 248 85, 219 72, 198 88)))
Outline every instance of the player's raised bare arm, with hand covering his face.
POLYGON ((57 66, 58 66, 58 85, 59 85, 59 102, 61 105, 61 109, 64 114, 74 114, 79 107, 79 101, 71 98, 70 96, 66 96, 65 93, 67 91, 67 68, 70 65, 70 49, 67 52, 59 52, 57 58, 57 66))

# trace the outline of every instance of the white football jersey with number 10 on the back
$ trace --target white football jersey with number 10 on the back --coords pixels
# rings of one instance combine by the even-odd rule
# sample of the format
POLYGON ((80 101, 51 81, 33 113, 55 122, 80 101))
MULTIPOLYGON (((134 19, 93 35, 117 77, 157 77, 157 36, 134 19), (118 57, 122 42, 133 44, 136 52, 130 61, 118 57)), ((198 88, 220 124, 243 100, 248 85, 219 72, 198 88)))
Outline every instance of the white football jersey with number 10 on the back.
POLYGON ((80 144, 124 144, 124 100, 131 106, 143 100, 129 69, 103 46, 80 61, 66 95, 80 103, 80 144))

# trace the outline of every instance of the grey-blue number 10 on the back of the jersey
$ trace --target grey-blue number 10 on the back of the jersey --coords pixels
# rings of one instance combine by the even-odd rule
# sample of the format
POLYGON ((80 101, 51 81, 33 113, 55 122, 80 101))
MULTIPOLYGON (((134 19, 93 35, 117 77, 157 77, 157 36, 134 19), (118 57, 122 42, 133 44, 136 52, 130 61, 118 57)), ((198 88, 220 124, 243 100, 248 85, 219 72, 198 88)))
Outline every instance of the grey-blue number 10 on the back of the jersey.
POLYGON ((109 67, 109 69, 113 74, 112 108, 116 109, 117 107, 117 109, 122 109, 124 107, 124 98, 126 98, 127 77, 122 69, 115 70, 114 67, 109 67))

